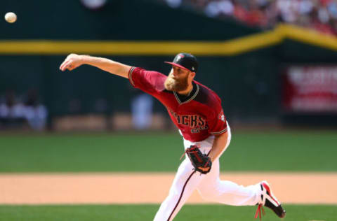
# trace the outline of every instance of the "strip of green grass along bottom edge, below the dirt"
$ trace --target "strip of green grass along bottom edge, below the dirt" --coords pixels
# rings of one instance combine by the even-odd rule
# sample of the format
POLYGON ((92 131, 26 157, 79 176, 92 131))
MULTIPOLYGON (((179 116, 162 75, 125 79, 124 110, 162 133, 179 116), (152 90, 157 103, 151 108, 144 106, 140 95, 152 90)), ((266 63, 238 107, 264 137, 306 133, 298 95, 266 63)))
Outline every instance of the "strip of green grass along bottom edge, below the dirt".
MULTIPOLYGON (((337 220, 337 206, 285 205, 286 221, 337 220)), ((0 220, 6 221, 140 221, 153 220, 159 205, 84 206, 0 206, 0 220)), ((253 218, 256 206, 185 205, 175 221, 242 221, 253 218)), ((265 209, 263 221, 280 219, 265 209)))

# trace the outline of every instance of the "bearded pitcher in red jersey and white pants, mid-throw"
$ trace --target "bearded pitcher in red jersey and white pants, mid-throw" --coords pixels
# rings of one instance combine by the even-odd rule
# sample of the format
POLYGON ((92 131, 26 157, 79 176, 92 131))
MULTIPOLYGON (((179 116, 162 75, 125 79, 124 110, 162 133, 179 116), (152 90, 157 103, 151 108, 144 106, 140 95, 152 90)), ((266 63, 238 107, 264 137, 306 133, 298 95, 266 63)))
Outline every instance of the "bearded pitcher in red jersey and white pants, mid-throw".
POLYGON ((166 63, 172 66, 169 76, 102 57, 71 54, 62 62, 60 70, 72 71, 82 64, 95 66, 128 78, 133 87, 151 94, 166 107, 183 136, 187 157, 180 164, 169 196, 161 204, 154 221, 173 220, 196 189, 207 201, 258 206, 255 218, 258 215, 261 218, 263 206, 284 218, 286 211, 266 181, 244 187, 220 180, 219 157, 230 145, 231 138, 221 100, 215 92, 194 80, 198 62, 193 55, 179 53, 173 62, 166 63))

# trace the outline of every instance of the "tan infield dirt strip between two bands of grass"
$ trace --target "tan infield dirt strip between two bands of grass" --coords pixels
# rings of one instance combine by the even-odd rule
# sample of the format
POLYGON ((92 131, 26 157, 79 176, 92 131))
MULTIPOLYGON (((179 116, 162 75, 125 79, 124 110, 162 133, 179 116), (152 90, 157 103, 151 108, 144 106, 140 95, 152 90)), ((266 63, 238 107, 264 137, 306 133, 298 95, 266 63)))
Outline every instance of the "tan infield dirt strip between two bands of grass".
MULTIPOLYGON (((175 173, 2 173, 0 204, 159 204, 175 173)), ((287 204, 337 204, 337 173, 222 173, 240 185, 267 180, 287 204)), ((207 204, 194 192, 187 203, 207 204)))

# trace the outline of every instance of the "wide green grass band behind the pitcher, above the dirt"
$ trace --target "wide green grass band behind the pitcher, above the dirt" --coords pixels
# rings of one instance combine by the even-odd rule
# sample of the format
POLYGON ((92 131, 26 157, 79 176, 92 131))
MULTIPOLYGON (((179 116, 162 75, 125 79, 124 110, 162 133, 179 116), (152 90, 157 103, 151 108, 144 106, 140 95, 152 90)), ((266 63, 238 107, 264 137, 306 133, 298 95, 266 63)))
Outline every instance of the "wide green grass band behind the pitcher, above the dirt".
MULTIPOLYGON (((336 131, 236 132, 225 171, 337 171, 336 131)), ((176 171, 177 134, 1 134, 0 172, 176 171)))

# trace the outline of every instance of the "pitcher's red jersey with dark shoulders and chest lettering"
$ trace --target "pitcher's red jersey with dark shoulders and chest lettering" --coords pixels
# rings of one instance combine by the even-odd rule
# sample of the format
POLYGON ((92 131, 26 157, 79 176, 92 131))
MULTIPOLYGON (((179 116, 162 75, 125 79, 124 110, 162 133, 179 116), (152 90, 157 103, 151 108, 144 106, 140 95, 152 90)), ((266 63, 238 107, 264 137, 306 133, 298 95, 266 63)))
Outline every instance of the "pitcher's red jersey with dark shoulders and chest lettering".
POLYGON ((171 120, 180 129, 183 137, 192 142, 203 141, 210 135, 223 134, 227 124, 221 100, 208 87, 193 81, 193 90, 187 97, 166 90, 167 76, 157 71, 132 67, 128 79, 139 88, 164 104, 171 120))

